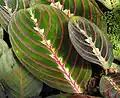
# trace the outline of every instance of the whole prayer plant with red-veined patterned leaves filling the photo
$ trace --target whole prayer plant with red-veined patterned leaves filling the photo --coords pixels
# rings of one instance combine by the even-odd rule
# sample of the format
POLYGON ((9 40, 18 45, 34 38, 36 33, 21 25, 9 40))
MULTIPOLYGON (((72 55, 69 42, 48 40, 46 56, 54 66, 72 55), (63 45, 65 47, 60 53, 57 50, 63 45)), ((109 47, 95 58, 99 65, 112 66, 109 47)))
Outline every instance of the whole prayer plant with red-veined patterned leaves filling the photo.
POLYGON ((69 94, 87 90, 94 63, 106 72, 100 80, 101 94, 119 98, 120 66, 113 60, 120 60, 120 34, 119 28, 108 25, 119 27, 118 10, 119 0, 0 0, 0 82, 8 97, 38 96, 44 82, 68 93, 58 98, 74 98, 69 94), (109 21, 110 14, 96 1, 111 10, 116 21, 109 21), (11 49, 3 40, 3 29, 11 49))

